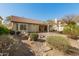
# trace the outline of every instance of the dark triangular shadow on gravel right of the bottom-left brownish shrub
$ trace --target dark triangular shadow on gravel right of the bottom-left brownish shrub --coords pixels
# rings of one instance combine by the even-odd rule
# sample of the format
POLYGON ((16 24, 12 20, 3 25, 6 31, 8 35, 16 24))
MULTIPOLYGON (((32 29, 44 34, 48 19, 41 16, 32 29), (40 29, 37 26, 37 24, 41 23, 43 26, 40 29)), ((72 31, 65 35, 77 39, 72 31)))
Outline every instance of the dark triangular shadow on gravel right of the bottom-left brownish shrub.
POLYGON ((34 52, 30 49, 29 45, 21 43, 18 50, 14 52, 14 56, 34 56, 34 52))

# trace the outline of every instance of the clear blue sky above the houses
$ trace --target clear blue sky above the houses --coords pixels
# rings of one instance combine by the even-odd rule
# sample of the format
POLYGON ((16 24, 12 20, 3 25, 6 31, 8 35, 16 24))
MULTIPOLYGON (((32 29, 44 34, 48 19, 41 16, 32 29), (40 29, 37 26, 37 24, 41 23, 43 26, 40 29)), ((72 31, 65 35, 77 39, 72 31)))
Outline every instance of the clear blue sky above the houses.
POLYGON ((0 16, 21 16, 37 20, 48 20, 61 18, 65 15, 79 15, 79 4, 77 3, 17 3, 0 4, 0 16))

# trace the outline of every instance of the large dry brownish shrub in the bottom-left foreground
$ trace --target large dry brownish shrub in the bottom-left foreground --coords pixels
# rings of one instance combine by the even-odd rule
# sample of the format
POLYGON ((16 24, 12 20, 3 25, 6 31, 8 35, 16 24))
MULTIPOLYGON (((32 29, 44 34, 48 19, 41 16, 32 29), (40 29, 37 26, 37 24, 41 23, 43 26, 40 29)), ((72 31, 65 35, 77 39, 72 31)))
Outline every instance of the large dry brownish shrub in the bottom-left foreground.
POLYGON ((17 49, 19 50, 20 41, 14 39, 9 35, 1 35, 0 36, 0 53, 3 55, 7 53, 8 55, 15 55, 17 49))

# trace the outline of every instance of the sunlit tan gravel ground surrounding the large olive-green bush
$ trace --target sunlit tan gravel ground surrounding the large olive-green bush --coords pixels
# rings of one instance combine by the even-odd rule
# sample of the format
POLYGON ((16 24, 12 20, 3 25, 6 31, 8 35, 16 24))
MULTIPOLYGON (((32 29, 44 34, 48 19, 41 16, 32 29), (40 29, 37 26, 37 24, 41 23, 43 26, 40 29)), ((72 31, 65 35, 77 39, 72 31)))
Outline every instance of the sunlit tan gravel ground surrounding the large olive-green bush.
MULTIPOLYGON (((57 49, 51 49, 49 46, 46 45, 46 37, 47 36, 63 36, 65 38, 66 35, 59 34, 59 33, 39 33, 39 35, 44 35, 44 38, 41 38, 38 41, 28 41, 28 40, 22 40, 23 43, 27 43, 28 45, 31 46, 31 49, 35 52, 36 56, 65 56, 68 54, 64 54, 62 51, 59 51, 57 49)), ((78 48, 79 49, 79 41, 73 40, 73 39, 68 39, 70 42, 71 46, 78 48)), ((79 50, 77 51, 79 52, 79 50)), ((73 54, 71 54, 73 55, 73 54)), ((74 55, 79 55, 79 54, 74 54, 74 55)))

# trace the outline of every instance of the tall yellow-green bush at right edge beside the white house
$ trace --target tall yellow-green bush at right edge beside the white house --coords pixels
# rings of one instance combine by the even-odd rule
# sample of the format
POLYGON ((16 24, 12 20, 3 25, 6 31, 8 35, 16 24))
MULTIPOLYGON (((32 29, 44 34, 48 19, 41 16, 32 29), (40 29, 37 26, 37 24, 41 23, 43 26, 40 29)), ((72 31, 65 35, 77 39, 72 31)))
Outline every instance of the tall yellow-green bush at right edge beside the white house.
POLYGON ((65 26, 63 33, 67 34, 71 38, 77 39, 79 36, 79 26, 67 25, 65 26))

